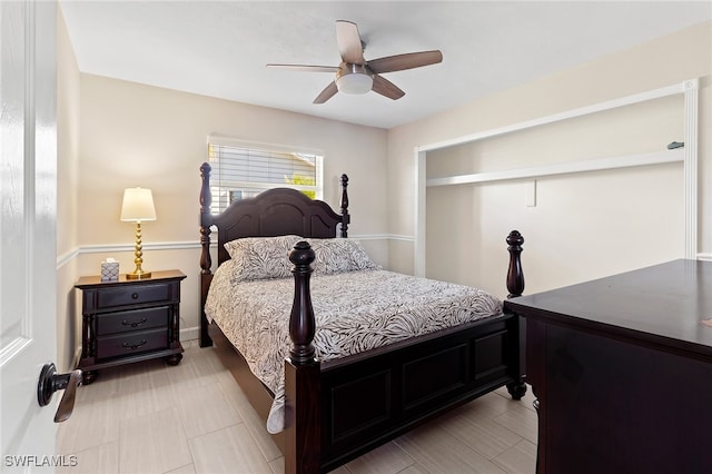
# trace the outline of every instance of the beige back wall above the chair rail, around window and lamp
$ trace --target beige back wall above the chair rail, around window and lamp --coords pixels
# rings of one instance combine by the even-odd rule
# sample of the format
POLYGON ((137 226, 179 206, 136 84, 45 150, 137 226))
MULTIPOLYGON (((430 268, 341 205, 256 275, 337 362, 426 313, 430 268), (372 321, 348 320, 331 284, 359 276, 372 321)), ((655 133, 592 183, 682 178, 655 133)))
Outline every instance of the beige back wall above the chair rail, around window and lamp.
POLYGON ((196 241, 198 168, 212 132, 323 150, 324 199, 338 206, 346 172, 354 234, 385 231, 385 130, 82 75, 79 197, 91 218, 79 223, 80 245, 130 241, 118 219, 130 186, 154 191, 158 220, 144 225, 145 243, 196 241))

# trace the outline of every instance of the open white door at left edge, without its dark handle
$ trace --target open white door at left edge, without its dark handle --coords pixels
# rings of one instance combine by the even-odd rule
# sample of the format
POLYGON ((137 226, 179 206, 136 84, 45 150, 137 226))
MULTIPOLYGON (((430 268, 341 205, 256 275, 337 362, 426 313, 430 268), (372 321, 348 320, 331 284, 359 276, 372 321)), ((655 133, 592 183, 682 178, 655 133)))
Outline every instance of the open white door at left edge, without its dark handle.
MULTIPOLYGON (((0 0, 0 471, 56 462, 57 6, 0 0)), ((60 393, 61 395, 61 393, 60 393)))

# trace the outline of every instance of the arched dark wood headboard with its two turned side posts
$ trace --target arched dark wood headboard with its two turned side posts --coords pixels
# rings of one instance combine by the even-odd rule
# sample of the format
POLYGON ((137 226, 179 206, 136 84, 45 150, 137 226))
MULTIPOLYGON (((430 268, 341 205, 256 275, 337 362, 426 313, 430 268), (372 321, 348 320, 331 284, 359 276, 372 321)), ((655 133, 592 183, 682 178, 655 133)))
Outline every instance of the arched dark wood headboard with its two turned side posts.
POLYGON ((275 237, 298 235, 313 238, 336 237, 340 226, 340 237, 347 237, 350 216, 348 214, 348 177, 342 175, 342 214, 304 192, 290 188, 275 188, 254 198, 233 203, 222 214, 210 214, 210 165, 200 167, 200 244, 202 255, 200 268, 209 273, 211 260, 210 227, 217 227, 218 265, 230 256, 224 244, 244 237, 275 237))

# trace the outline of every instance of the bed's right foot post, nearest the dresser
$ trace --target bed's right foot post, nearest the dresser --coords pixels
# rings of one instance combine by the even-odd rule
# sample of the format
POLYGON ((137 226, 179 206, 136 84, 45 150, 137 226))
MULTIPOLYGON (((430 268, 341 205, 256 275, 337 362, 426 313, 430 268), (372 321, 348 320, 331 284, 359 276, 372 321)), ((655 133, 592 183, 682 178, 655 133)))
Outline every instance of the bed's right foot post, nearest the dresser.
MULTIPOLYGON (((524 244, 524 237, 518 230, 512 230, 507 236, 507 250, 510 251, 510 269, 507 270, 507 299, 522 296, 524 293, 524 271, 522 270, 522 244, 524 244)), ((526 375, 524 374, 526 361, 524 358, 524 342, 526 340, 526 322, 521 316, 514 316, 514 324, 516 324, 516 334, 518 334, 518 352, 515 353, 516 366, 518 366, 517 379, 507 384, 507 391, 512 395, 513 399, 522 399, 526 394, 526 375)))

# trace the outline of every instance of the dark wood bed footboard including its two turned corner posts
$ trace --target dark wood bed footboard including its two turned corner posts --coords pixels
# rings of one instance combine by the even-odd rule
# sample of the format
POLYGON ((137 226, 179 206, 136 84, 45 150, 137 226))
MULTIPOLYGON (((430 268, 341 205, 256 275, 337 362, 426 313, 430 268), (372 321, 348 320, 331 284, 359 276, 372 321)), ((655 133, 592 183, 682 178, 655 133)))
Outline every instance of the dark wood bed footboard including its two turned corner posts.
MULTIPOLYGON (((512 231, 507 289, 524 290, 512 231)), ((501 316, 432 333, 320 364, 309 294, 314 250, 305 241, 289 254, 295 294, 289 320, 293 348, 285 363, 285 472, 332 471, 434 416, 506 385, 526 392, 521 318, 501 316), (363 394, 368 394, 364 397, 363 394)))

